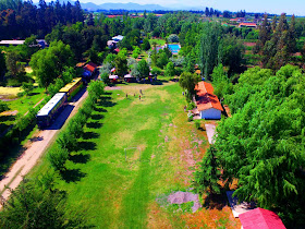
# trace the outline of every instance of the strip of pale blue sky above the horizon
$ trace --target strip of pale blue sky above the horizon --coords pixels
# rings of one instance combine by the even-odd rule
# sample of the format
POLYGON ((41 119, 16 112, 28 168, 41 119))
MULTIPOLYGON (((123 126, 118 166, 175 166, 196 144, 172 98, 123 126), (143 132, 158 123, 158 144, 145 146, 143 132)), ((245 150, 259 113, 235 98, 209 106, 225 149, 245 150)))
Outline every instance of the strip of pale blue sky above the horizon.
POLYGON ((80 0, 81 2, 93 2, 102 4, 108 2, 127 3, 134 2, 138 4, 160 4, 162 7, 182 7, 205 9, 213 8, 217 10, 247 12, 267 12, 281 14, 305 15, 305 0, 80 0))

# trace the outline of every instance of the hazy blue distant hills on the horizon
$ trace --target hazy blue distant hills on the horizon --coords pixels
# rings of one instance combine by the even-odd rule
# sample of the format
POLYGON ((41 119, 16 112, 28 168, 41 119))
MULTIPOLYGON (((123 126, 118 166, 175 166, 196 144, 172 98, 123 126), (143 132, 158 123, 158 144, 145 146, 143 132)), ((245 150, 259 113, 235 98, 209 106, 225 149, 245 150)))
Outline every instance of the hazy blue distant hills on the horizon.
POLYGON ((95 4, 93 2, 82 3, 81 5, 83 9, 89 10, 89 11, 96 11, 96 10, 169 10, 168 8, 163 8, 159 4, 137 4, 137 3, 103 3, 103 4, 95 4))

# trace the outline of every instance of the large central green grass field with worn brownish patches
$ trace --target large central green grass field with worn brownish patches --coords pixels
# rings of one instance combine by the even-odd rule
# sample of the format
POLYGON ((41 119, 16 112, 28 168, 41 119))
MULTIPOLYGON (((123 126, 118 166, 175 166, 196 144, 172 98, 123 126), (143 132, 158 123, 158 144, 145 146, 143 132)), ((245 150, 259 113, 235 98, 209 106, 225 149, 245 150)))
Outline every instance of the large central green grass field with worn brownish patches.
MULTIPOLYGON (((156 202, 190 188, 207 147, 205 132, 186 122, 181 92, 176 83, 135 84, 103 97, 86 124, 80 150, 57 178, 71 209, 86 210, 98 228, 237 227, 227 206, 190 214, 156 202)), ((45 156, 29 177, 49 170, 45 156)))

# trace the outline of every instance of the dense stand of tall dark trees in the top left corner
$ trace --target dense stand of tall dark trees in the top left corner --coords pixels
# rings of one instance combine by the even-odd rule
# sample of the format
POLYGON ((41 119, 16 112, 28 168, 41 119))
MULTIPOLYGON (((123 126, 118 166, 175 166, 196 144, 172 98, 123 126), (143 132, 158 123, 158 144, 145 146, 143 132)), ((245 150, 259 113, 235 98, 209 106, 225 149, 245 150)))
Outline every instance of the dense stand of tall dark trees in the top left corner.
POLYGON ((0 1, 0 40, 25 39, 30 35, 44 38, 57 24, 84 22, 84 13, 77 0, 74 5, 40 0, 38 7, 32 1, 0 1))

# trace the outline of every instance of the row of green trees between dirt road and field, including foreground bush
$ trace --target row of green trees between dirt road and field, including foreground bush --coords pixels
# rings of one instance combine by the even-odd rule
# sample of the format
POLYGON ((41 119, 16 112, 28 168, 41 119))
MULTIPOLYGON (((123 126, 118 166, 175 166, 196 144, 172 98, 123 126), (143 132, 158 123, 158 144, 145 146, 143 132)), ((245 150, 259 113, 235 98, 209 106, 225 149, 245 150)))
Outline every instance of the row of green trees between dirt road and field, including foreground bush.
POLYGON ((65 171, 70 153, 77 149, 77 138, 89 119, 96 103, 103 94, 103 83, 94 81, 88 85, 88 97, 72 118, 68 129, 58 140, 57 146, 47 155, 53 171, 24 180, 12 191, 9 200, 2 200, 0 212, 1 228, 90 228, 84 210, 71 212, 66 207, 68 194, 56 189, 56 172, 65 171))

